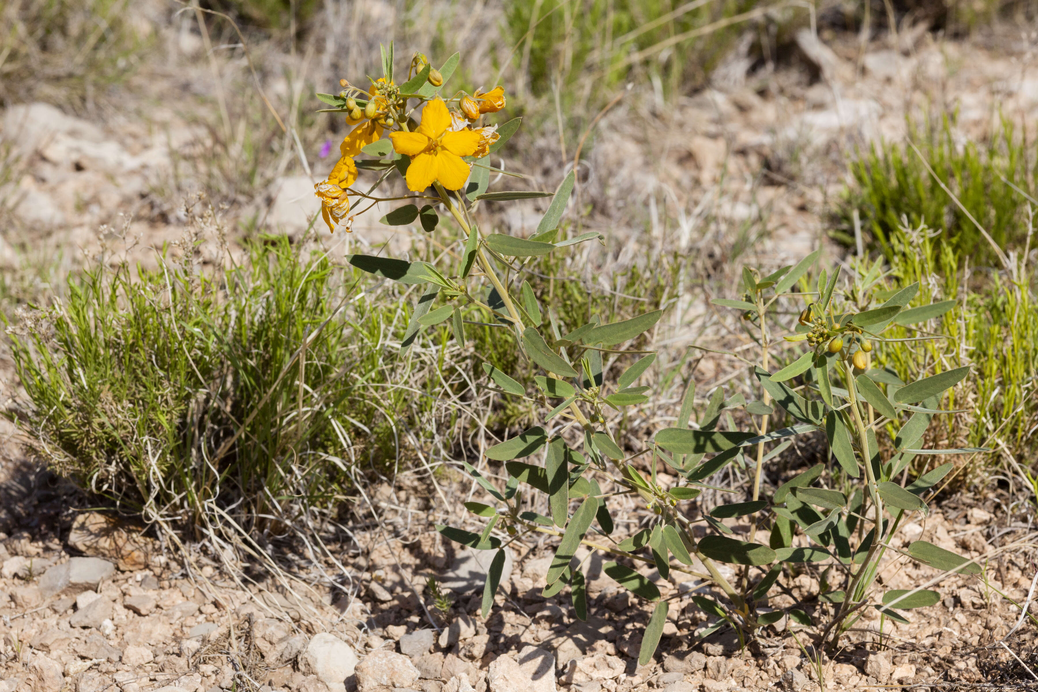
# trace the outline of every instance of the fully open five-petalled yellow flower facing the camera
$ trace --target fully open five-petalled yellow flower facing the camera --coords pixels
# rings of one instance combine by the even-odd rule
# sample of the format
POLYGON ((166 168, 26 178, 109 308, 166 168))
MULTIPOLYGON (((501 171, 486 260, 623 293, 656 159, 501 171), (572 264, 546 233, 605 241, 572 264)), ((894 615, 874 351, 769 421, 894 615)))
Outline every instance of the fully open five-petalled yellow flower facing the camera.
POLYGON ((480 145, 480 133, 471 130, 448 132, 450 112, 442 100, 426 104, 416 132, 391 132, 389 138, 398 154, 411 157, 407 187, 421 192, 439 181, 447 190, 459 190, 468 178, 468 164, 462 157, 471 156, 480 145))

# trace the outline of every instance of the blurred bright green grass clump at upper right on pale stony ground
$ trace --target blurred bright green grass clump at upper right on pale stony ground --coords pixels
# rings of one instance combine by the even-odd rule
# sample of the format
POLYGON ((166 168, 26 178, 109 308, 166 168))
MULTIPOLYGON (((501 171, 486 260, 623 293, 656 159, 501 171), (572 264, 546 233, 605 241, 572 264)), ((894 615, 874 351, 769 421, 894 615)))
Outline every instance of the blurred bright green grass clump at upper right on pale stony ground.
MULTIPOLYGON (((951 116, 911 129, 911 139, 923 158, 962 205, 1002 248, 1020 247, 1027 238, 1027 199, 1006 181, 1034 196, 1036 150, 1013 124, 1002 127, 983 142, 959 145, 951 116)), ((939 229, 937 242, 949 244, 957 256, 974 265, 990 264, 995 253, 966 214, 946 193, 910 148, 899 144, 872 145, 850 164, 854 185, 841 209, 838 238, 853 244, 852 213, 862 221, 887 258, 907 217, 910 227, 926 224, 939 229)))

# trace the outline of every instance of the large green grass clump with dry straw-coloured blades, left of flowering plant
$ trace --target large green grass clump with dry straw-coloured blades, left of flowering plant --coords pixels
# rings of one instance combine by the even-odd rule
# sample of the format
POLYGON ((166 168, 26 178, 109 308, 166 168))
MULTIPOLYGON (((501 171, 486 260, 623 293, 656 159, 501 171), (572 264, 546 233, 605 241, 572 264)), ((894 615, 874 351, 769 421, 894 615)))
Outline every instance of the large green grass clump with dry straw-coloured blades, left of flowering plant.
POLYGON ((399 356, 399 287, 284 238, 240 265, 202 262, 199 242, 154 270, 104 257, 8 330, 28 396, 13 414, 80 488, 153 521, 204 531, 225 513, 253 533, 335 504, 357 469, 408 463, 405 431, 421 447, 454 415, 425 395, 452 382, 449 359, 399 356))

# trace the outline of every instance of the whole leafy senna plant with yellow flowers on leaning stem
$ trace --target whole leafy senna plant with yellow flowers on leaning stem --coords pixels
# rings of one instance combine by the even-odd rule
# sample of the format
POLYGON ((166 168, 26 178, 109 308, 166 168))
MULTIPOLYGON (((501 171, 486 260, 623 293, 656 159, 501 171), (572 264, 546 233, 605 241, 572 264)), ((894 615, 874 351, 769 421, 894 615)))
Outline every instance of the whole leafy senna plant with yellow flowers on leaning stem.
MULTIPOLYGON (((353 203, 414 200, 387 214, 383 223, 417 221, 434 232, 438 214, 445 211, 464 232, 467 241, 454 264, 349 256, 360 270, 424 286, 402 351, 406 352, 419 330, 433 325, 447 323, 454 338, 462 343, 466 324, 491 326, 510 330, 517 348, 541 371, 535 378, 538 391, 531 397, 521 384, 484 363, 484 386, 501 395, 543 404, 541 424, 485 451, 487 459, 504 464, 508 481, 503 488, 462 462, 495 500, 493 506, 465 503, 470 513, 486 520, 482 532, 437 526, 444 537, 463 546, 494 551, 484 588, 484 616, 493 606, 504 548, 535 533, 559 537, 544 596, 568 588, 577 617, 588 616, 582 562, 575 560, 581 546, 606 554, 610 559, 604 573, 656 604, 643 637, 643 664, 659 643, 667 602, 647 574, 630 565, 655 569, 663 578, 672 571, 686 572, 718 587, 725 594, 719 600, 692 597, 700 608, 717 617, 714 625, 698 633, 699 637, 731 627, 744 641, 760 628, 788 615, 792 622, 817 628, 819 644, 835 646, 867 607, 879 609, 884 617, 903 620, 900 610, 936 603, 936 591, 921 588, 878 593, 875 581, 880 560, 893 549, 891 536, 914 513, 927 514, 922 496, 952 465, 938 466, 907 486, 897 478, 906 477, 918 455, 976 451, 918 448, 932 417, 951 413, 938 408, 941 395, 966 376, 967 368, 905 383, 890 370, 871 367, 870 353, 875 345, 882 348, 892 340, 883 337, 892 325, 925 322, 950 306, 909 307, 919 285, 884 292, 885 277, 879 262, 862 265, 849 285, 841 285, 837 271, 821 271, 816 282, 809 281, 819 252, 767 276, 746 268, 742 272, 743 298, 713 302, 740 310, 741 324, 760 345, 759 361, 746 361, 760 386, 760 398, 746 402, 737 394, 726 399, 722 389, 717 388, 693 424, 693 383, 685 392, 674 427, 658 431, 643 449, 625 450, 606 413, 649 402, 651 387, 638 385, 638 381, 646 377, 656 355, 622 347, 651 330, 662 311, 614 323, 593 319, 567 331, 550 298, 539 296, 522 280, 532 257, 601 238, 597 232, 567 238, 559 228, 574 185, 572 172, 554 193, 536 234, 523 239, 481 231, 474 222, 481 205, 551 195, 489 190, 489 155, 517 131, 519 121, 499 127, 481 124, 483 115, 504 107, 504 91, 495 87, 473 94, 448 92, 444 85, 458 63, 459 55, 455 54, 435 70, 425 56, 415 54, 408 79, 398 85, 390 45, 383 49, 382 77, 368 79, 367 88, 343 80, 344 90, 337 95, 318 94, 333 107, 324 112, 345 113, 354 127, 340 146, 342 159, 329 178, 318 184, 317 194, 332 230, 342 226, 349 229, 355 216, 350 215, 353 203), (384 133, 388 137, 383 138, 384 133), (358 159, 361 154, 374 158, 358 159), (354 187, 358 169, 378 171, 371 189, 354 187), (395 175, 403 177, 413 194, 377 196, 376 191, 395 175), (798 320, 787 325, 774 309, 780 300, 809 304, 798 320), (777 339, 775 334, 782 332, 787 333, 777 339), (802 349, 802 353, 772 372, 771 361, 781 352, 777 347, 802 349), (607 379, 603 354, 624 353, 640 357, 614 380, 607 379), (742 418, 753 421, 752 430, 721 430, 722 412, 737 408, 744 410, 742 418), (771 421, 789 418, 791 425, 769 432, 771 421), (826 473, 826 464, 818 464, 762 496, 763 470, 789 444, 783 439, 822 433, 836 460, 831 472, 826 473), (892 445, 881 447, 880 435, 889 436, 892 445), (771 445, 777 446, 768 450, 771 445), (894 452, 884 458, 882 449, 891 446, 894 452), (645 460, 649 464, 644 473, 634 463, 644 469, 645 460), (698 506, 702 490, 711 487, 706 481, 735 462, 754 468, 750 499, 698 506), (679 478, 676 483, 663 482, 663 475, 656 471, 660 463, 679 478), (603 485, 613 490, 604 493, 603 485), (530 494, 543 494, 547 501, 524 504, 524 497, 530 494), (614 538, 609 503, 618 494, 639 496, 655 516, 652 526, 632 536, 614 538), (524 506, 544 506, 548 514, 524 506), (750 526, 748 535, 736 537, 721 521, 731 518, 744 518, 750 526), (699 523, 703 526, 696 527, 699 523), (734 573, 722 571, 718 563, 737 568, 734 573), (825 619, 817 625, 798 608, 784 611, 767 607, 768 594, 784 570, 802 570, 803 563, 824 569, 815 617, 824 615, 825 619)), ((733 420, 726 417, 728 427, 732 427, 728 421, 733 420)), ((979 571, 966 558, 925 541, 916 541, 902 552, 941 571, 979 571)))

